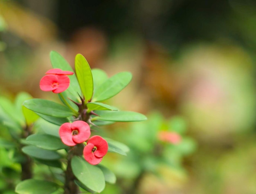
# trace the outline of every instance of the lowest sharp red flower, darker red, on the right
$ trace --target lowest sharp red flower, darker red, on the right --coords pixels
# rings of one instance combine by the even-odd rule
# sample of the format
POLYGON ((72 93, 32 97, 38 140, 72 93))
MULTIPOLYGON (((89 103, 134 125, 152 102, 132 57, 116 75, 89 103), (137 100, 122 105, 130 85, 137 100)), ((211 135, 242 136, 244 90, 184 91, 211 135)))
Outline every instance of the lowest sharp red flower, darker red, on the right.
POLYGON ((102 137, 92 136, 85 148, 83 149, 83 156, 88 163, 96 165, 101 162, 103 156, 108 152, 108 142, 102 137))

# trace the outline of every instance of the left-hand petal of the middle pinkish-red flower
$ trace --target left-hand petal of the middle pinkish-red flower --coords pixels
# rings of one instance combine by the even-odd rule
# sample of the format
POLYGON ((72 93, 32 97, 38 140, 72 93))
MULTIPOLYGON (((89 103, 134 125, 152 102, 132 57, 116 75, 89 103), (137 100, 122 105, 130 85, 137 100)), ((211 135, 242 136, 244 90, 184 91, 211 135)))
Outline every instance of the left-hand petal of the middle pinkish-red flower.
POLYGON ((67 146, 75 146, 76 143, 72 140, 71 123, 63 123, 59 129, 61 141, 67 146))

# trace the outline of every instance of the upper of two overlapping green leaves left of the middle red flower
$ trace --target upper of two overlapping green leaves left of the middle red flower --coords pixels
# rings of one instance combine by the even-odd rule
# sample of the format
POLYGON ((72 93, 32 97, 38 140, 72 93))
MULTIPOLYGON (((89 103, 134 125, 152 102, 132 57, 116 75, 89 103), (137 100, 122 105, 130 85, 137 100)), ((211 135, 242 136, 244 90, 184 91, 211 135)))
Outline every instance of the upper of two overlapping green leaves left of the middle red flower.
POLYGON ((26 139, 27 143, 46 150, 61 150, 67 148, 61 139, 49 134, 33 134, 26 139))

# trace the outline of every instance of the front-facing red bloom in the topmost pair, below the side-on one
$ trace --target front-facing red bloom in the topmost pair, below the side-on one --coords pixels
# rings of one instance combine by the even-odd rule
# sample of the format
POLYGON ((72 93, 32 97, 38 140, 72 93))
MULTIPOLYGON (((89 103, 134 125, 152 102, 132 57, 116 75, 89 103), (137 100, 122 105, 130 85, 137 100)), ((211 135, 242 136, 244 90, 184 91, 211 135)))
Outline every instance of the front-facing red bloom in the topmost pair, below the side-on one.
POLYGON ((70 79, 67 75, 45 75, 40 80, 40 89, 61 93, 70 86, 70 79))

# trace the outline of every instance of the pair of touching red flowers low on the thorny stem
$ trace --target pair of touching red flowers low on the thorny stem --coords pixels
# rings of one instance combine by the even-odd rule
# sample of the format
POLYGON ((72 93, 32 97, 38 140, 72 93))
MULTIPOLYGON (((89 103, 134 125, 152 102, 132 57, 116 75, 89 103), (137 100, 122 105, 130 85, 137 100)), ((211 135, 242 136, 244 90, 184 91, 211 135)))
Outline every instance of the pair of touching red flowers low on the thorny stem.
POLYGON ((94 135, 90 139, 90 126, 85 121, 74 121, 73 123, 64 123, 59 129, 61 140, 67 146, 75 146, 77 143, 87 141, 83 149, 83 156, 88 163, 92 165, 99 164, 108 152, 108 142, 94 135))

